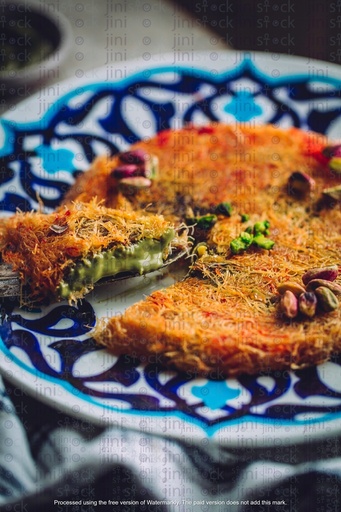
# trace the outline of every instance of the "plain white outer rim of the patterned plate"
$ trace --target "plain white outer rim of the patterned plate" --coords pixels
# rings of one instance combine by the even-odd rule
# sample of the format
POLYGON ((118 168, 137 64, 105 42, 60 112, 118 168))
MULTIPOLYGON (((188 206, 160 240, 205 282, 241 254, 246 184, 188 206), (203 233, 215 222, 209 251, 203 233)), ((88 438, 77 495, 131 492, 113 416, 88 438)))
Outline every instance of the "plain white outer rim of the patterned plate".
MULTIPOLYGON (((200 59, 203 59, 203 61, 204 61, 204 64, 202 63, 202 61, 200 62, 200 68, 199 68, 200 71, 201 71, 201 67, 203 65, 208 66, 208 64, 212 62, 212 53, 213 52, 197 52, 197 55, 200 55, 200 59)), ((264 66, 265 68, 268 66, 268 63, 269 63, 269 54, 264 54, 262 52, 243 52, 243 51, 226 50, 226 51, 219 51, 219 52, 214 52, 214 53, 216 53, 218 55, 218 62, 216 62, 216 61, 213 61, 213 62, 216 62, 222 68, 226 67, 226 65, 228 64, 227 61, 231 61, 231 59, 235 59, 238 62, 238 61, 242 61, 242 59, 244 57, 247 57, 251 61, 254 61, 255 64, 257 64, 257 66, 261 65, 261 66, 264 66)), ((169 66, 170 64, 172 64, 171 61, 174 61, 174 54, 160 54, 160 55, 153 56, 153 58, 154 58, 154 61, 152 63, 152 66, 149 66, 150 70, 159 69, 160 63, 164 64, 165 67, 169 66)), ((291 73, 292 73, 292 71, 295 71, 295 69, 297 69, 297 70, 300 69, 302 75, 305 74, 304 71, 302 71, 302 67, 305 68, 306 70, 309 70, 309 69, 311 70, 313 66, 322 66, 328 70, 328 73, 330 73, 328 75, 329 78, 332 77, 333 79, 335 79, 341 83, 341 69, 333 63, 326 63, 324 61, 317 61, 317 60, 310 60, 310 59, 307 60, 306 58, 303 58, 303 57, 294 57, 293 58, 292 56, 288 56, 288 55, 284 55, 284 54, 272 54, 272 56, 270 56, 270 59, 271 58, 273 59, 274 62, 277 62, 277 63, 280 61, 283 64, 283 62, 284 62, 284 64, 285 64, 284 68, 290 63, 291 73)), ((174 62, 173 62, 173 64, 174 64, 174 62)), ((282 64, 279 64, 279 66, 281 66, 282 64)), ((114 66, 113 68, 115 68, 115 69, 120 68, 121 65, 122 65, 122 63, 118 64, 117 66, 114 66)), ((137 69, 139 70, 140 67, 141 67, 141 69, 143 69, 143 66, 146 65, 146 62, 144 60, 137 59, 137 60, 127 61, 126 63, 124 63, 124 65, 126 65, 126 71, 128 73, 136 75, 136 73, 137 73, 136 70, 137 69), (134 73, 131 73, 132 71, 134 71, 134 73)), ((183 63, 179 63, 179 64, 177 63, 175 65, 180 67, 181 69, 191 68, 191 66, 188 66, 188 64, 183 65, 183 63)), ((216 67, 217 66, 215 66, 215 67, 213 66, 212 69, 215 69, 216 67)), ((111 68, 111 69, 113 69, 113 68, 111 68)), ((196 67, 193 67, 193 70, 196 70, 196 69, 197 69, 196 67)), ((207 72, 208 70, 205 68, 204 71, 207 72)), ((228 73, 230 73, 230 71, 231 70, 229 69, 228 73)), ((106 74, 108 72, 108 67, 104 66, 104 67, 98 68, 98 70, 94 70, 93 72, 96 75, 98 74, 98 76, 103 76, 104 74, 106 74)), ((264 70, 264 73, 265 73, 265 70, 264 70)), ((130 74, 126 77, 127 80, 129 80, 130 74)), ((290 73, 288 73, 287 76, 290 76, 290 73)), ((298 76, 298 75, 295 75, 295 76, 298 76)), ((65 89, 67 89, 70 85, 74 84, 74 82, 75 82, 74 78, 66 79, 61 83, 61 88, 64 87, 65 89)), ((118 82, 121 82, 121 80, 119 80, 118 82)), ((74 89, 70 89, 70 93, 74 92, 74 90, 79 87, 83 87, 85 85, 89 85, 92 83, 94 83, 94 82, 91 79, 91 77, 90 78, 85 77, 84 79, 81 79, 81 80, 77 79, 77 87, 74 89)), ((65 98, 67 95, 68 95, 68 92, 65 92, 64 95, 59 96, 59 99, 65 98)), ((47 98, 49 96, 50 96, 50 89, 49 89, 49 87, 46 87, 42 91, 34 94, 33 96, 27 98, 23 102, 16 105, 16 108, 14 111, 7 111, 3 115, 3 118, 8 121, 19 122, 22 119, 22 117, 21 117, 22 112, 23 111, 27 112, 27 110, 29 110, 30 104, 32 104, 32 102, 34 102, 38 97, 39 98, 47 98)), ((2 341, 0 341, 0 345, 1 344, 2 344, 2 341)), ((11 355, 8 356, 8 354, 6 354, 6 350, 4 351, 4 347, 2 347, 2 348, 3 348, 3 351, 0 353, 0 356, 1 356, 0 357, 0 371, 2 372, 3 376, 5 378, 7 378, 9 381, 11 381, 14 385, 22 387, 26 392, 28 392, 31 395, 33 394, 33 396, 35 396, 37 399, 47 403, 48 405, 53 405, 55 407, 57 406, 60 410, 62 410, 65 413, 68 413, 71 415, 73 414, 78 417, 82 417, 87 421, 99 423, 101 425, 108 424, 107 418, 105 418, 104 421, 103 421, 103 419, 98 418, 98 414, 96 414, 96 412, 98 411, 97 405, 93 406, 92 404, 89 404, 89 403, 84 404, 84 400, 82 398, 75 396, 75 394, 72 393, 72 391, 68 391, 67 389, 64 388, 63 385, 62 385, 62 388, 63 388, 62 392, 63 393, 66 392, 67 396, 70 396, 70 393, 71 393, 71 396, 73 396, 73 398, 75 399, 75 403, 72 406, 68 405, 66 403, 66 401, 64 401, 64 396, 63 396, 63 398, 58 400, 58 402, 55 402, 54 400, 51 400, 49 397, 45 396, 43 393, 43 389, 44 389, 43 383, 46 381, 46 376, 41 375, 40 372, 36 371, 33 376, 33 378, 36 380, 37 384, 39 384, 38 387, 37 386, 33 387, 32 383, 28 384, 25 381, 25 378, 27 377, 27 369, 25 369, 21 364, 18 365, 18 363, 15 362, 15 358, 13 360, 13 357, 11 357, 11 355), (19 372, 18 372, 18 366, 19 366, 19 372), (16 371, 13 371, 14 369, 16 371)), ((61 387, 60 382, 58 382, 57 380, 55 381, 53 378, 50 378, 50 377, 48 378, 48 380, 49 380, 49 385, 52 385, 53 388, 55 389, 55 393, 58 394, 57 390, 60 389, 60 387, 61 387)), ((113 419, 112 421, 110 421, 109 422, 110 424, 117 423, 121 426, 123 425, 128 428, 132 428, 132 429, 136 428, 136 425, 134 425, 134 422, 129 421, 129 418, 131 418, 131 415, 128 417, 128 420, 127 420, 126 415, 124 415, 124 413, 122 414, 119 412, 115 412, 115 414, 116 414, 117 419, 113 419)), ((162 414, 164 414, 164 413, 162 413, 162 414)), ((335 418, 335 416, 334 416, 334 418, 335 418)), ((153 419, 154 419, 154 417, 151 418, 151 421, 153 419)), ((178 420, 178 416, 177 416, 176 420, 178 420)), ((188 422, 188 419, 186 419, 186 421, 188 422)), ((283 428, 282 428, 282 436, 281 437, 285 444, 288 444, 288 443, 296 444, 296 443, 299 443, 299 442, 302 442, 305 440, 306 434, 307 434, 307 429, 311 430, 309 432, 309 435, 313 439, 320 439, 321 437, 325 437, 326 435, 330 436, 330 435, 335 434, 340 429, 341 413, 333 421, 334 421, 334 425, 333 425, 333 428, 331 428, 331 429, 329 427, 326 427, 325 429, 314 429, 313 423, 311 424, 311 429, 309 428, 309 425, 307 425, 307 424, 296 425, 296 426, 291 425, 290 426, 290 435, 288 434, 287 437, 285 434, 287 431, 285 429, 289 428, 289 426, 282 425, 283 428), (283 429, 284 429, 284 431, 283 431, 283 429)), ((252 427, 252 429, 256 429, 254 431, 254 435, 257 438, 257 433, 256 433, 257 422, 255 422, 253 420, 251 420, 251 421, 245 420, 242 423, 247 423, 247 425, 252 427)), ((264 419, 261 420, 261 423, 264 423, 264 419)), ((240 420, 239 420, 239 424, 240 424, 240 420)), ((229 428, 231 425, 232 425, 232 423, 223 428, 219 427, 219 432, 218 432, 217 436, 215 436, 215 433, 212 432, 208 437, 210 439, 218 440, 219 443, 221 443, 221 444, 227 444, 229 446, 234 446, 234 445, 239 446, 240 445, 239 436, 234 435, 233 438, 227 439, 227 435, 229 433, 229 428), (224 438, 223 434, 226 435, 225 438, 224 438)), ((141 428, 139 428, 138 430, 141 430, 141 428)), ((276 438, 278 437, 278 435, 280 433, 279 430, 280 429, 277 429, 276 438)), ((155 427, 155 425, 153 426, 153 433, 155 433, 156 435, 163 435, 163 436, 170 435, 171 437, 172 436, 177 437, 177 438, 179 437, 179 433, 165 432, 162 428, 160 429, 158 427, 155 427)), ((201 427, 195 427, 195 440, 202 440, 202 439, 206 439, 206 438, 207 438, 207 433, 205 433, 205 431, 201 427)), ((263 436, 263 437, 257 438, 258 446, 267 446, 271 443, 272 443, 271 436, 270 437, 263 436)))

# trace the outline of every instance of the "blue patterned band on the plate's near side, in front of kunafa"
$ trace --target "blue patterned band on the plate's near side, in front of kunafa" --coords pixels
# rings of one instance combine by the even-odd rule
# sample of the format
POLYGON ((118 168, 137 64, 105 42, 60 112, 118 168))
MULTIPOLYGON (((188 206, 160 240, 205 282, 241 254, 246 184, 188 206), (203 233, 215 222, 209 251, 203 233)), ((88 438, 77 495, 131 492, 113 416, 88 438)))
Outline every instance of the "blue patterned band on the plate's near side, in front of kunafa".
POLYGON ((102 415, 107 409, 138 414, 141 419, 177 416, 191 424, 190 431, 195 423, 209 437, 236 421, 252 419, 273 424, 279 420, 278 425, 285 421, 288 425, 306 423, 309 427, 312 422, 326 422, 341 415, 341 392, 335 389, 341 357, 329 363, 328 374, 334 373, 329 384, 323 378, 323 369, 315 367, 299 370, 295 376, 275 372, 263 377, 243 375, 227 381, 209 381, 193 380, 176 372, 167 375, 162 366, 143 365, 128 356, 110 358, 108 364, 107 356, 102 354, 102 359, 100 355, 103 348, 91 337, 97 306, 83 300, 71 307, 60 303, 52 309, 49 306, 33 312, 13 310, 9 301, 0 326, 0 353, 4 350, 6 357, 35 379, 41 374, 47 383, 55 380, 73 396, 79 395, 88 404, 98 406, 102 415), (59 323, 60 319, 67 322, 59 323), (51 351, 59 356, 57 366, 51 364, 51 351), (97 351, 99 358, 94 358, 91 374, 79 373, 82 358, 97 351), (316 402, 316 397, 321 401, 316 402))

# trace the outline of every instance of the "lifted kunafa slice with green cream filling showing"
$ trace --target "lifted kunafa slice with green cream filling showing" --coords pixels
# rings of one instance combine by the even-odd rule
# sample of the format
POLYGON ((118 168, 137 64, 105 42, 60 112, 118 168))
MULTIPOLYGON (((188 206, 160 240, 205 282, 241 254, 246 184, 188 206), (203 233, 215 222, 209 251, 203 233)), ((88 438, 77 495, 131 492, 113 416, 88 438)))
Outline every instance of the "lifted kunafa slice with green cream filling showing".
POLYGON ((96 200, 57 212, 18 212, 3 223, 2 261, 20 276, 25 301, 75 301, 106 278, 160 269, 187 249, 186 230, 161 215, 96 200))

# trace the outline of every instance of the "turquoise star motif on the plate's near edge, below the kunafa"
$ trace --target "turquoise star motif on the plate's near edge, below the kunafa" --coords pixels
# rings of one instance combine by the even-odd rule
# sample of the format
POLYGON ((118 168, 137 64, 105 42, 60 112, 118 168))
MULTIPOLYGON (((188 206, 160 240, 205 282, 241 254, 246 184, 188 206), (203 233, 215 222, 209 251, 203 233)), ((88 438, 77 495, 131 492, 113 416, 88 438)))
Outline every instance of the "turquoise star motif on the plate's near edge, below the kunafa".
POLYGON ((200 398, 210 409, 221 409, 240 393, 239 389, 230 388, 226 381, 208 381, 203 386, 192 387, 192 394, 200 398))

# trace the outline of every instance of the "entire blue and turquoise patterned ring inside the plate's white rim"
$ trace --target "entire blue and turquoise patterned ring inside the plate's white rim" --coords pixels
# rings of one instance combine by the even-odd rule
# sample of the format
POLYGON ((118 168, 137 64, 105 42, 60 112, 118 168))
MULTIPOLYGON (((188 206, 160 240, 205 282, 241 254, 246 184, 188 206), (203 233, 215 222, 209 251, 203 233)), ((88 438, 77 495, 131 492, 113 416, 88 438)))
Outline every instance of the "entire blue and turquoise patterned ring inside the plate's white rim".
MULTIPOLYGON (((237 67, 228 67, 217 74, 192 66, 167 65, 148 70, 148 75, 142 71, 118 82, 77 86, 65 96, 55 98, 51 108, 36 121, 0 120, 1 209, 13 213, 17 208, 22 211, 37 208, 36 192, 41 188, 47 191, 46 208, 56 208, 72 181, 69 176, 67 179, 63 174, 58 176, 58 171, 76 177, 83 168, 81 160, 90 165, 99 152, 115 154, 139 140, 141 133, 127 115, 127 102, 131 100, 143 103, 155 130, 168 129, 175 124, 181 127, 195 123, 197 118, 207 122, 225 121, 228 113, 232 122, 248 122, 254 118, 261 121, 266 114, 266 122, 278 126, 283 123, 319 133, 335 132, 341 115, 340 80, 327 75, 319 77, 316 87, 316 78, 310 73, 272 78, 245 56, 237 67), (148 95, 143 92, 147 90, 148 95), (187 98, 193 101, 187 102, 187 98), (103 102, 107 106, 105 111, 101 107, 103 102), (34 137, 33 142, 31 137, 34 137), (44 142, 36 147, 38 140, 44 142)), ((54 379, 73 397, 79 394, 87 404, 97 405, 101 415, 105 410, 115 413, 120 410, 121 414, 121 402, 124 414, 141 419, 177 416, 189 423, 188 431, 192 432, 192 425, 196 423, 207 435, 218 432, 229 422, 235 424, 248 417, 264 421, 265 425, 280 420, 294 427, 307 424, 308 428, 315 421, 327 422, 341 417, 340 390, 332 386, 333 379, 328 385, 315 368, 296 372, 294 379, 287 372, 275 372, 271 377, 273 386, 265 385, 254 376, 242 376, 233 383, 201 380, 194 384, 182 374, 174 374, 165 381, 163 367, 144 367, 136 358, 122 356, 112 368, 100 366, 96 375, 79 375, 76 372, 78 361, 99 349, 94 340, 87 337, 90 336, 88 326, 96 322, 97 309, 82 301, 77 309, 61 305, 44 314, 30 310, 29 319, 23 317, 20 321, 23 311, 20 315, 11 314, 11 304, 9 301, 6 305, 9 310, 4 314, 6 321, 0 329, 8 357, 17 360, 17 364, 35 378, 41 374, 48 384, 54 379), (66 326, 58 325, 59 319, 68 319, 66 326), (61 366, 57 370, 47 357, 47 342, 50 343, 48 350, 54 350, 60 357, 61 366), (22 359, 18 358, 20 352, 24 353, 22 359), (29 366, 26 366, 27 358, 29 366), (139 381, 143 384, 136 393, 135 383, 139 381), (321 402, 317 403, 316 397, 320 397, 321 402), (163 405, 164 399, 167 399, 166 405, 163 405), (314 415, 316 420, 311 419, 314 415)), ((0 353, 2 350, 0 346, 0 353)), ((340 357, 335 364, 335 372, 340 371, 340 357)), ((187 431, 187 426, 182 427, 187 431)))

